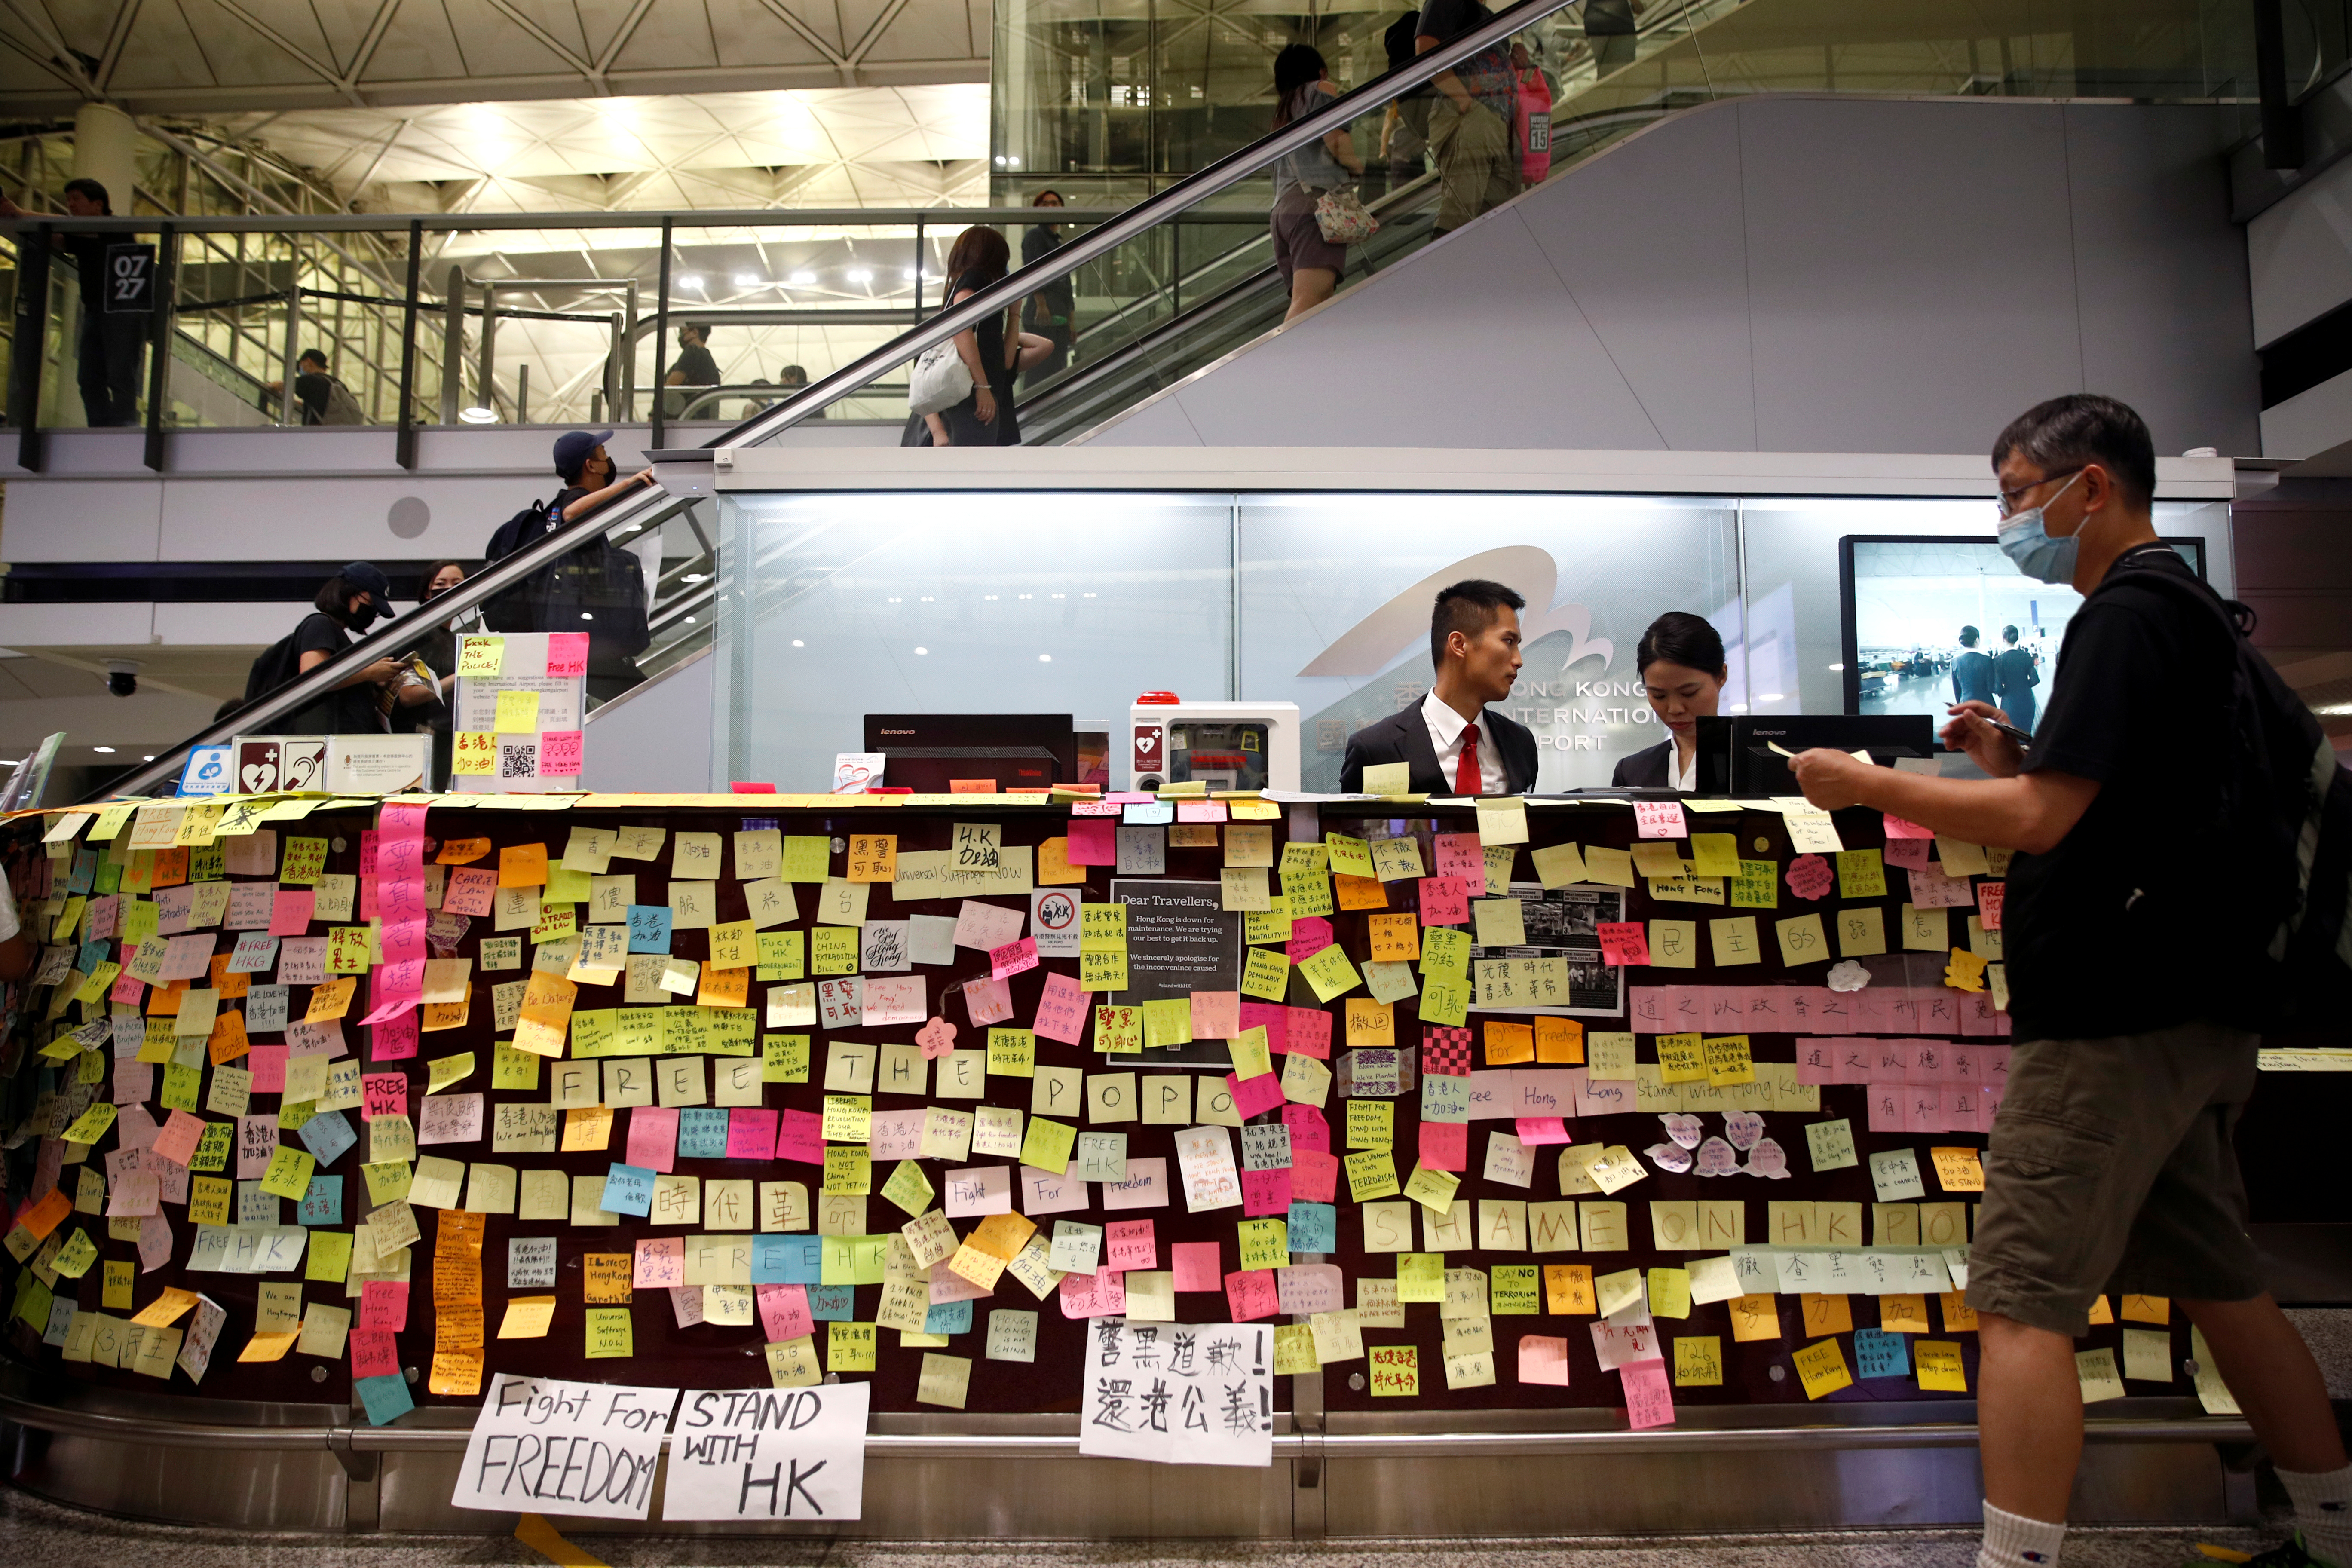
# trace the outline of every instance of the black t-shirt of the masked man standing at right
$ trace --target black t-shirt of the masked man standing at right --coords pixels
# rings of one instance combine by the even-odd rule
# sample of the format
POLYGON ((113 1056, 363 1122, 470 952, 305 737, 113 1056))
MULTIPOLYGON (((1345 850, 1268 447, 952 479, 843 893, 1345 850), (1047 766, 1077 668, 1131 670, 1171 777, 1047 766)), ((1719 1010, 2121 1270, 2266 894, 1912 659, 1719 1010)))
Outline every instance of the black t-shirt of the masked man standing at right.
POLYGON ((2133 571, 2194 578, 2171 545, 2140 545, 2065 628, 2025 771, 2091 778, 2098 795, 2056 849, 2009 865, 2002 945, 2020 1041, 2256 1018, 2232 961, 2244 933, 2211 907, 2201 875, 2232 766, 2237 649, 2216 618, 2133 585, 2133 571))

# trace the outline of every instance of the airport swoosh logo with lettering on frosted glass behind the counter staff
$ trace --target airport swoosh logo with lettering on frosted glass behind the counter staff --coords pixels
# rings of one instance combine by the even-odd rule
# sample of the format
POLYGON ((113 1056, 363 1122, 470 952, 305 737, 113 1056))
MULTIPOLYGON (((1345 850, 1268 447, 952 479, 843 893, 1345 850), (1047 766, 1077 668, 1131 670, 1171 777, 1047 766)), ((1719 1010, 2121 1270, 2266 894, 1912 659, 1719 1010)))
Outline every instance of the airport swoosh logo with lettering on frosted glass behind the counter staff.
POLYGON ((1658 738, 1632 670, 1613 675, 1616 642, 1592 635, 1592 609, 1552 604, 1559 590, 1552 555, 1536 545, 1503 545, 1399 588, 1298 672, 1364 682, 1308 719, 1301 762, 1308 790, 1336 790, 1348 736, 1428 693, 1430 602, 1439 588, 1463 578, 1491 578, 1526 599, 1519 611, 1526 668, 1496 705, 1536 731, 1545 788, 1606 783, 1616 757, 1658 738), (1374 679, 1381 675, 1388 679, 1374 679))

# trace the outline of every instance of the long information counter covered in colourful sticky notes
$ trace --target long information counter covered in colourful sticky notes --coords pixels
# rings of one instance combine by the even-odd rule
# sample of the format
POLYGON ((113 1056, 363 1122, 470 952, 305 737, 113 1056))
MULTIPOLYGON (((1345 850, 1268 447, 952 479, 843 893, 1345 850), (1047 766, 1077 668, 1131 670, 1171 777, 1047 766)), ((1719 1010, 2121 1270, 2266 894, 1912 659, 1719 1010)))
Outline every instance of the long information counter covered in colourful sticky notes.
MULTIPOLYGON (((1999 853, 1757 799, 294 797, 7 835, 31 1490, 506 1530, 449 1497, 482 1389, 534 1373, 868 1382, 863 1516, 760 1528, 1976 1519, 1999 853), (1235 1340, 1263 1408, 1207 1366, 1235 1340)), ((2110 1298, 2079 1352, 2079 1519, 2251 1507, 2169 1302, 2110 1298)))

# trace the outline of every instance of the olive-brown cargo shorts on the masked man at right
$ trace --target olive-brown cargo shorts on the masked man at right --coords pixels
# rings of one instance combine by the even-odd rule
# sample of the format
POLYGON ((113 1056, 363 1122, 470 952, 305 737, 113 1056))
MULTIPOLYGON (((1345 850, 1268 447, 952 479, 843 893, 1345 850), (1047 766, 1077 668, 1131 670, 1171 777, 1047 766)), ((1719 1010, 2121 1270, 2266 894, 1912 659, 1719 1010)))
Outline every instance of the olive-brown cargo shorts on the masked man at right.
POLYGON ((2077 1338, 2107 1288, 2260 1295, 2230 1145, 2258 1046, 2213 1023, 2018 1046, 1985 1150, 1969 1305, 2077 1338))

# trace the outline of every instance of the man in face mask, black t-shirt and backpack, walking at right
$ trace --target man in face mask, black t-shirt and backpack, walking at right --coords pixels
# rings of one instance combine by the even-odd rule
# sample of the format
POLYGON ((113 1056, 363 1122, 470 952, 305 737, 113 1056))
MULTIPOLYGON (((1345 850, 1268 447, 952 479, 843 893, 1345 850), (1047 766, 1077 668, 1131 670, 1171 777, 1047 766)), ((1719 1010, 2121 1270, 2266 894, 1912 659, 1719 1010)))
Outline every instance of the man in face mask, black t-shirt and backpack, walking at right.
POLYGON ((2074 1340, 2112 1288, 2187 1314, 2277 1465, 2298 1535, 2253 1561, 2352 1568, 2352 1467, 2319 1366, 2263 1286, 2230 1145, 2286 990, 2272 940, 2291 947, 2317 907, 2300 903, 2296 835, 2310 825, 2336 853, 2317 837, 2343 797, 2333 755, 2241 618, 2157 538, 2138 414, 2056 397, 2002 430, 1992 465, 2002 550, 2084 595, 2030 748, 1971 701, 1943 736, 1987 778, 1835 750, 1792 764, 1816 806, 2018 851, 2002 914, 2016 1048, 1966 1293, 1978 1563, 2058 1563, 2082 1458, 2074 1340))

